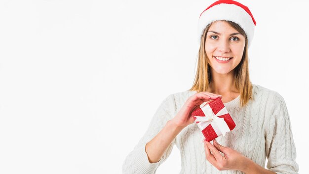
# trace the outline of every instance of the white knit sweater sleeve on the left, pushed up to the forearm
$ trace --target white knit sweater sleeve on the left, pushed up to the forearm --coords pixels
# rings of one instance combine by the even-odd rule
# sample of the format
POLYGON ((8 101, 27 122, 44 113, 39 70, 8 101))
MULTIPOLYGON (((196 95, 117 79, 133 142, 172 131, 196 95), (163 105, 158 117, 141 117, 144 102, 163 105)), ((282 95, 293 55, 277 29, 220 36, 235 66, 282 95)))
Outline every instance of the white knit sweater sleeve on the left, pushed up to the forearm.
POLYGON ((172 148, 175 144, 175 139, 168 146, 160 161, 150 163, 147 153, 145 151, 146 143, 148 143, 154 136, 162 130, 166 122, 174 117, 175 114, 175 99, 174 95, 167 96, 159 105, 152 121, 140 139, 134 150, 124 160, 122 165, 123 174, 155 174, 156 169, 162 164, 170 155, 172 148))

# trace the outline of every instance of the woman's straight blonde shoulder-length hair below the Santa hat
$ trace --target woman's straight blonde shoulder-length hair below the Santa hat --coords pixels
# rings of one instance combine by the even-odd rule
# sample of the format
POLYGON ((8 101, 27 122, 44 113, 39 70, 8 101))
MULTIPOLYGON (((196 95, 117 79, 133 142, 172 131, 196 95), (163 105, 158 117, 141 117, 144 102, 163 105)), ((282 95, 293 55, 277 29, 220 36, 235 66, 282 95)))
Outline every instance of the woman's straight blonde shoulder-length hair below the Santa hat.
MULTIPOLYGON (((249 100, 252 99, 252 86, 249 79, 249 67, 248 67, 248 39, 244 30, 236 23, 226 21, 231 27, 237 30, 246 38, 246 44, 244 47, 242 59, 240 63, 234 69, 234 86, 240 93, 240 105, 245 106, 249 100)), ((201 37, 200 47, 198 51, 197 71, 194 79, 193 86, 189 90, 196 90, 197 92, 207 91, 211 83, 211 72, 208 63, 208 57, 205 52, 206 34, 212 25, 209 24, 201 37)))

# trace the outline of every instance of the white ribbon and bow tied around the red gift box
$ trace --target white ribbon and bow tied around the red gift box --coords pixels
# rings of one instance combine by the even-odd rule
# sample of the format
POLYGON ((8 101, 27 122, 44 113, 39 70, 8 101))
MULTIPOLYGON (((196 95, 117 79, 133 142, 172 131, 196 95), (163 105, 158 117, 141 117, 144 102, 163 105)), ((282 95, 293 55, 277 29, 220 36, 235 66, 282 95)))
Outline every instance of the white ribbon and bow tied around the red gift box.
POLYGON ((224 118, 218 117, 229 113, 225 107, 222 108, 217 114, 212 112, 212 109, 208 104, 200 109, 204 112, 205 117, 195 116, 195 122, 199 122, 197 123, 197 126, 201 131, 203 131, 208 125, 212 126, 218 136, 225 136, 226 132, 231 131, 228 124, 224 121, 224 118))

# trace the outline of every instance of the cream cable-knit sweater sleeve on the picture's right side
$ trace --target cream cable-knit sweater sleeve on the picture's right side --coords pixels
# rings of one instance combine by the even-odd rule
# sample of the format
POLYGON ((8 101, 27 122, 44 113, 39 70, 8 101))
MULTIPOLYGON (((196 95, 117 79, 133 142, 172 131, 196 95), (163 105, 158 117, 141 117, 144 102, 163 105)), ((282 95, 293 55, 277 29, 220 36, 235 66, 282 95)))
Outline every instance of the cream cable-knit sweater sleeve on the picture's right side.
POLYGON ((285 101, 275 92, 271 105, 266 138, 267 168, 276 174, 297 174, 299 167, 285 101))

